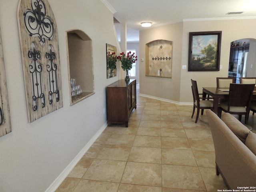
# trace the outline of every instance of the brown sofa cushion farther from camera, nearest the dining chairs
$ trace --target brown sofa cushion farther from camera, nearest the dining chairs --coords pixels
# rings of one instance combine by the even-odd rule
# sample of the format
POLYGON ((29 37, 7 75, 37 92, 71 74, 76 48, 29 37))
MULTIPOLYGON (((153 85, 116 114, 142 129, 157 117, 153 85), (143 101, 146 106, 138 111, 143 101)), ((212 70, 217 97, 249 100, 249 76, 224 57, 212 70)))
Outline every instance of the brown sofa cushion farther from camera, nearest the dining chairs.
POLYGON ((250 130, 244 126, 237 118, 230 113, 223 113, 222 121, 232 130, 232 132, 243 142, 248 136, 250 130))

